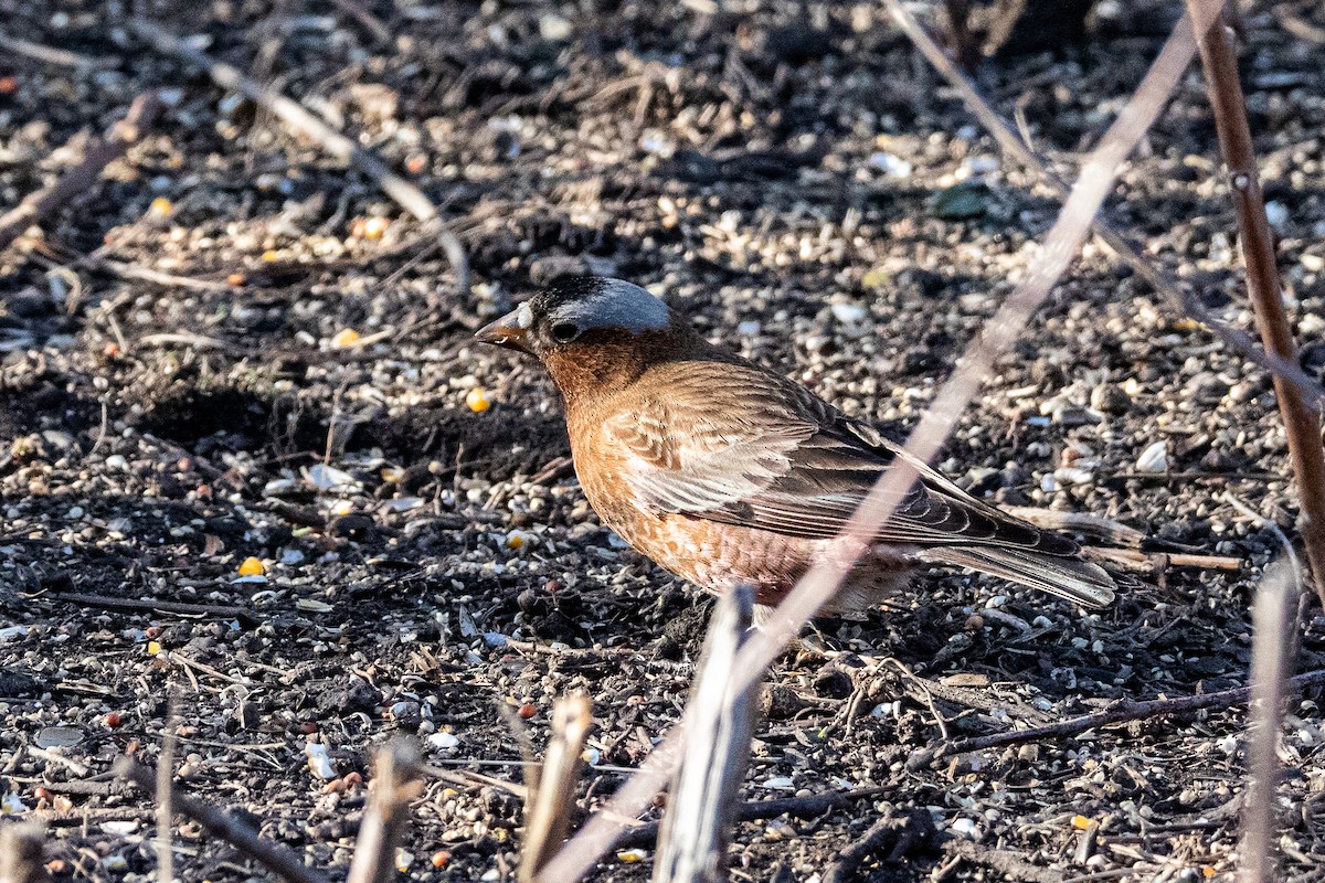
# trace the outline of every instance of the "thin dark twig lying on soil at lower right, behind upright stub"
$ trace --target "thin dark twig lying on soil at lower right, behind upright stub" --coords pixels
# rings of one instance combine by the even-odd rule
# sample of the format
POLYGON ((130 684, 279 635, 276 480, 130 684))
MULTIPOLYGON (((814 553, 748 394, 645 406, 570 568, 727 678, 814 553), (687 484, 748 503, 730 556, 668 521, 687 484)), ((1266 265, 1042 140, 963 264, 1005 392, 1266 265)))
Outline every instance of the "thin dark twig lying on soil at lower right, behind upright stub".
MULTIPOLYGON (((1308 671, 1306 674, 1301 674, 1291 679, 1288 684, 1295 690, 1325 684, 1325 671, 1308 671)), ((912 755, 906 760, 906 767, 909 769, 921 769, 935 760, 942 760, 943 757, 951 757, 954 755, 966 755, 973 751, 990 751, 992 748, 1007 748, 1008 745, 1023 745, 1028 741, 1039 741, 1041 739, 1065 739, 1084 733, 1088 729, 1096 729, 1097 727, 1125 724, 1133 720, 1147 720, 1150 718, 1161 718, 1165 715, 1181 715, 1191 711, 1200 711, 1202 708, 1231 708, 1232 706, 1251 699, 1251 687, 1234 687, 1232 690, 1203 692, 1195 696, 1178 696, 1175 699, 1149 699, 1146 702, 1132 702, 1125 699, 1114 703, 1104 711, 1080 715, 1077 718, 1068 718, 1067 720, 1044 724, 1043 727, 1028 727, 1026 729, 994 733, 991 736, 973 736, 971 739, 959 739, 957 741, 935 745, 934 748, 926 748, 912 755)))

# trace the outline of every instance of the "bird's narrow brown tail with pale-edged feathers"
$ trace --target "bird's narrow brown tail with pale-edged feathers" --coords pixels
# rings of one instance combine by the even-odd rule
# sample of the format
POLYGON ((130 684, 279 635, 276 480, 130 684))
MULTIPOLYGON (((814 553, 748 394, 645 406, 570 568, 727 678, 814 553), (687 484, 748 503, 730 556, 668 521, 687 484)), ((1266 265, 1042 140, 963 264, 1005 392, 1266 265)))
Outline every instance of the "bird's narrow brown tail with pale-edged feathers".
POLYGON ((966 545, 938 547, 921 552, 921 560, 965 567, 1010 582, 1028 585, 1088 608, 1108 606, 1118 588, 1098 564, 1077 557, 1045 555, 1034 549, 966 545))

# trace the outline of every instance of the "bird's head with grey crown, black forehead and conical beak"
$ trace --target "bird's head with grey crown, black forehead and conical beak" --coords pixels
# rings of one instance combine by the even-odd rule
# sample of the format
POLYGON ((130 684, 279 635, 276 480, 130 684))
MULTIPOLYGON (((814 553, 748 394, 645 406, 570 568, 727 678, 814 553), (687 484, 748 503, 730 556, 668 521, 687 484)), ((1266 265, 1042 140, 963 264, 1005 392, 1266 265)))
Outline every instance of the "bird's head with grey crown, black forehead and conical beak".
POLYGON ((697 335, 637 285, 568 277, 480 328, 474 338, 537 356, 571 400, 628 381, 649 364, 684 351, 697 335))

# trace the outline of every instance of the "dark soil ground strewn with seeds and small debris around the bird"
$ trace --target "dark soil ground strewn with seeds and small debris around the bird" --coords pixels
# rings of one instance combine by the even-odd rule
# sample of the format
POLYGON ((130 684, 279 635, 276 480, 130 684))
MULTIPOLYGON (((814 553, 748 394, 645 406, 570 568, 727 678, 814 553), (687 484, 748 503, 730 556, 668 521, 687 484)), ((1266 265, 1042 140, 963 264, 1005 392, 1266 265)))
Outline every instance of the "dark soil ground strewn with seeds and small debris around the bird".
MULTIPOLYGON (((506 879, 522 810, 500 782, 521 781, 522 755, 504 710, 533 712, 537 749, 555 698, 592 696, 592 810, 678 718, 710 601, 599 527, 549 381, 474 347, 473 328, 559 273, 615 274, 902 433, 1056 205, 873 4, 364 3, 387 40, 350 3, 144 5, 409 176, 476 285, 457 295, 436 237, 359 172, 129 37, 125 4, 0 0, 9 36, 83 60, 0 54, 0 205, 76 163, 140 91, 171 105, 106 180, 0 256, 4 818, 49 822, 64 879, 148 879, 151 802, 107 770, 126 749, 158 756, 174 695, 180 785, 331 879, 367 794, 344 776, 401 733, 461 777, 415 805, 403 879, 506 879), (338 346, 348 332, 370 343, 338 346), (490 408, 476 412, 480 388, 490 408), (241 579, 249 557, 262 576, 241 579)), ((1173 5, 1124 3, 1086 45, 986 65, 980 86, 1071 175, 1173 5)), ((1320 372, 1325 12, 1253 4, 1244 25, 1281 269, 1320 372)), ((1194 70, 1108 212, 1249 328, 1212 151, 1194 70)), ((896 609, 820 621, 818 642, 841 653, 775 666, 745 796, 881 790, 742 823, 734 878, 818 880, 881 814, 913 808, 941 841, 884 850, 859 879, 1228 874, 1243 708, 918 772, 905 760, 945 731, 1246 682, 1248 601, 1279 555, 1272 526, 1295 518, 1269 380, 1090 246, 942 469, 1000 503, 1116 518, 1239 567, 1150 573, 1092 614, 935 572, 896 609), (1155 442, 1167 471, 1140 470, 1155 442), (1086 822, 1093 849, 1079 847, 1086 822)), ((1322 653, 1309 612, 1298 669, 1322 653)), ((1325 878, 1317 699, 1288 707, 1283 879, 1325 878)), ((260 876, 196 826, 175 847, 180 879, 260 876)), ((610 855, 592 879, 647 879, 648 855, 610 855)))

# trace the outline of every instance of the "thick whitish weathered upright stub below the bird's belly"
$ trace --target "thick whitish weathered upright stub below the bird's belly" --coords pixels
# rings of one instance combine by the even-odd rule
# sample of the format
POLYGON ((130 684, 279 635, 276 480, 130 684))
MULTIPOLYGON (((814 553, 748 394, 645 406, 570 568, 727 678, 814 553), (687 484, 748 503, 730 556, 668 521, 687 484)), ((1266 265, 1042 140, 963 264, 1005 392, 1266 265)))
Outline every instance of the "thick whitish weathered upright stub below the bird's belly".
POLYGON ((733 666, 750 634, 754 590, 742 585, 721 598, 709 621, 700 676, 690 694, 697 714, 672 778, 672 797, 653 864, 655 883, 723 880, 737 800, 750 763, 750 735, 759 682, 733 690, 733 666))

